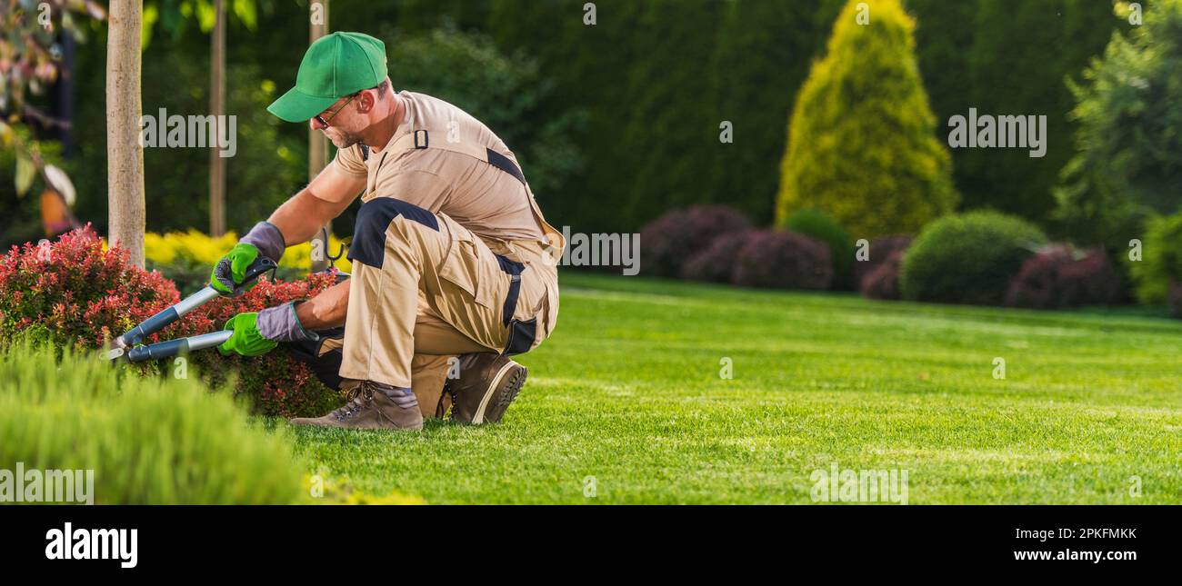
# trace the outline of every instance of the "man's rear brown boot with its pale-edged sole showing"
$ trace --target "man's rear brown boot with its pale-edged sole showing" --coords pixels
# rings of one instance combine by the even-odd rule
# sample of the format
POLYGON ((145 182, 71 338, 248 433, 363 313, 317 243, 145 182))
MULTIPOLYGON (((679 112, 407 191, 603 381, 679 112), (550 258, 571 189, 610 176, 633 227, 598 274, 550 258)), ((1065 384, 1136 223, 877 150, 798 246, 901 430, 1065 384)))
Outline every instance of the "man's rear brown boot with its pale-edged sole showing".
POLYGON ((443 390, 452 397, 452 421, 496 423, 525 386, 526 367, 500 354, 479 352, 460 357, 460 378, 443 390))

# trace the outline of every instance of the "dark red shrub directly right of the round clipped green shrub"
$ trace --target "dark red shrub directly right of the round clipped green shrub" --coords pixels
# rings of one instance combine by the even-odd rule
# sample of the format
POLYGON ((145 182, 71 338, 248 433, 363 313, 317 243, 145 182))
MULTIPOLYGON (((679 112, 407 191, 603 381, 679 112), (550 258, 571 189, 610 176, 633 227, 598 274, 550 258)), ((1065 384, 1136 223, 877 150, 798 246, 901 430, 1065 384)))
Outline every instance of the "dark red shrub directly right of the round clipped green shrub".
POLYGON ((1031 310, 1109 305, 1119 294, 1121 278, 1103 248, 1052 245, 1022 263, 1009 282, 1006 305, 1031 310))

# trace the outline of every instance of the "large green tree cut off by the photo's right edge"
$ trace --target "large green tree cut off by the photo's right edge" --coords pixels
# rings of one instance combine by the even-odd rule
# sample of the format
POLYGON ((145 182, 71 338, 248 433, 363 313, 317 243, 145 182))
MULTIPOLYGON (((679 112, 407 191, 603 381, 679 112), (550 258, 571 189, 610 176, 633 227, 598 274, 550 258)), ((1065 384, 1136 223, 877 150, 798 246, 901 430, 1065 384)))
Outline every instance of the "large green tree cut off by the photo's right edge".
POLYGON ((1121 249, 1144 217, 1182 201, 1182 1, 1147 7, 1144 25, 1115 34, 1083 78, 1071 86, 1078 152, 1056 215, 1072 234, 1121 249))

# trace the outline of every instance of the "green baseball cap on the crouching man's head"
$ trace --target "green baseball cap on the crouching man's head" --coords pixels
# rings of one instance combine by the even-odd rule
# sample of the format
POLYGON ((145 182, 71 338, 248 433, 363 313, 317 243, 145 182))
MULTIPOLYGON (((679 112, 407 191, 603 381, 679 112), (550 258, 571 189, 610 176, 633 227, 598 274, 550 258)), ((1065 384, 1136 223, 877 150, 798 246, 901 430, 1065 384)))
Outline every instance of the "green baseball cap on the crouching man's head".
POLYGON ((296 87, 267 111, 287 122, 306 122, 343 96, 376 86, 385 76, 384 43, 363 33, 326 34, 304 53, 296 87))

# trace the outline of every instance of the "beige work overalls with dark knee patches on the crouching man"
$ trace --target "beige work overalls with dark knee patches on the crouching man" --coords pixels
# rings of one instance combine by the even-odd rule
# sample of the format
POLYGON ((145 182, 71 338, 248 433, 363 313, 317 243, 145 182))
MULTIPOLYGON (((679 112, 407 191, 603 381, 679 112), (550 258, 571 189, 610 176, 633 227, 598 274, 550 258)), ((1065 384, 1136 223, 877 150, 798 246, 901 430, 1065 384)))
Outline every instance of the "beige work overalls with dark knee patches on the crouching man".
POLYGON ((443 149, 513 175, 547 242, 486 243, 446 214, 372 191, 363 196, 349 250, 353 273, 340 377, 409 386, 428 417, 436 415, 449 358, 519 354, 550 336, 566 246, 511 159, 485 146, 433 142, 433 135, 446 131, 415 130, 383 152, 443 149))

